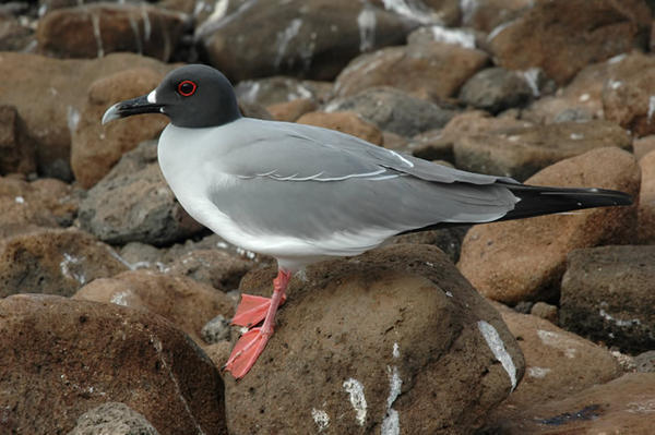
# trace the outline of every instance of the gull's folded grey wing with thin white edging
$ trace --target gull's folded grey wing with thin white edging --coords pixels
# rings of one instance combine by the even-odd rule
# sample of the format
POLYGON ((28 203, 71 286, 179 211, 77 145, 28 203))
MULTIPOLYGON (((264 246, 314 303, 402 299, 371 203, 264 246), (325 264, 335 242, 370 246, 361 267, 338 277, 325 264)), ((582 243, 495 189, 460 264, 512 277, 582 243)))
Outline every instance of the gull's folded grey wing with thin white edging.
POLYGON ((495 184, 511 179, 454 170, 325 129, 260 121, 257 131, 261 138, 221 157, 238 181, 211 192, 253 232, 386 238, 438 222, 496 220, 516 202, 495 184))

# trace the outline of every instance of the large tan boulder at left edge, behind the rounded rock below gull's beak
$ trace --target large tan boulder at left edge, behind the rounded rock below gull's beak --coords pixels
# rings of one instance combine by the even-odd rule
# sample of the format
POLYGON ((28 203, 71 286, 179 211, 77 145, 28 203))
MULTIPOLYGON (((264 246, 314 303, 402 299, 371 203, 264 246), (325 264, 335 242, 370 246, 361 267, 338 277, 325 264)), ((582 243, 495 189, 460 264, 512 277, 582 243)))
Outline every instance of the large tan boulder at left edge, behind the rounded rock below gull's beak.
POLYGON ((15 106, 19 111, 27 135, 35 143, 37 170, 41 176, 72 179, 71 135, 87 101, 88 86, 100 77, 140 67, 159 73, 169 68, 154 59, 128 53, 95 60, 0 55, 0 76, 12 84, 0 93, 0 105, 15 106))

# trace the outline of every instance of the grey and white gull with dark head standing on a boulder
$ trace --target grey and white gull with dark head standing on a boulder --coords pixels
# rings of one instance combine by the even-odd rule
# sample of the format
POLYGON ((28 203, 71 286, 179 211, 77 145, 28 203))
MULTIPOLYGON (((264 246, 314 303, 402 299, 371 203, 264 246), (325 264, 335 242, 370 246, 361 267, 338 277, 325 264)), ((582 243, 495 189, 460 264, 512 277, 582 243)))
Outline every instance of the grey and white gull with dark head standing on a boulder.
POLYGON ((109 107, 102 123, 142 113, 170 120, 157 158, 189 215, 227 242, 277 261, 272 297, 242 294, 231 321, 247 328, 223 367, 236 379, 263 352, 291 276, 309 264, 441 226, 632 203, 619 191, 532 186, 334 130, 247 118, 228 78, 204 64, 170 71, 150 94, 109 107))

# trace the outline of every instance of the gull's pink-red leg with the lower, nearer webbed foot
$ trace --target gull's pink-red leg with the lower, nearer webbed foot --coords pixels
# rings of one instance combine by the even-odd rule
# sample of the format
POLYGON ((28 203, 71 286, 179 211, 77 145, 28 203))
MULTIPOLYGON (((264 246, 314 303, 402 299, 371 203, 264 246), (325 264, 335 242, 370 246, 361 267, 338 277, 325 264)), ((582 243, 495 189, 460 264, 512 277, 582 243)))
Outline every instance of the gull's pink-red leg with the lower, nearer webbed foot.
MULTIPOLYGON (((264 317, 264 324, 261 327, 252 328, 243 334, 233 349, 224 368, 230 372, 235 378, 239 379, 243 377, 254 365, 254 362, 266 347, 269 338, 273 335, 275 313, 285 299, 284 293, 290 278, 291 274, 289 271, 283 269, 278 270, 277 277, 273 280, 273 297, 269 302, 269 310, 264 317)), ((242 301, 242 303, 245 303, 245 301, 242 301)), ((237 310, 237 314, 238 313, 239 311, 237 310)))

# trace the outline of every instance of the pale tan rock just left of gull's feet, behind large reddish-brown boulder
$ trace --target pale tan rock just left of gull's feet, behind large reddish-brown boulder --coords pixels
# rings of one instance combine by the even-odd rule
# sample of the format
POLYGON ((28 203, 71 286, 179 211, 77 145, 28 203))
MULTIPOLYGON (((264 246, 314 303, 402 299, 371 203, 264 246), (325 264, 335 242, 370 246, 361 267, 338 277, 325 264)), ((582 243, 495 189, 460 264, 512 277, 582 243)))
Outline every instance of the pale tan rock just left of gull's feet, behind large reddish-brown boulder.
POLYGON ((167 318, 202 345, 201 329, 217 314, 230 317, 233 300, 191 278, 130 270, 87 283, 73 299, 146 310, 167 318))

